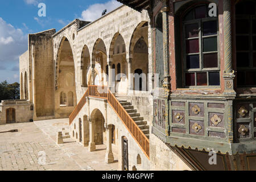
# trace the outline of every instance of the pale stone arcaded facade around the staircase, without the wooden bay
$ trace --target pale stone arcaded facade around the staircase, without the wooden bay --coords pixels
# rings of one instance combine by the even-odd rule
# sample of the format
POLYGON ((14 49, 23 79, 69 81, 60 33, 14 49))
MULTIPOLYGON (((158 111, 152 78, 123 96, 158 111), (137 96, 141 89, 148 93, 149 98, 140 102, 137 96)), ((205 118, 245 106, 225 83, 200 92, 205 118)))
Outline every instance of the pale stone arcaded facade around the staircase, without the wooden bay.
MULTIPOLYGON (((28 35, 28 51, 20 56, 20 94, 34 110, 17 108, 16 112, 30 113, 34 120, 68 118, 79 106, 88 86, 101 85, 134 105, 151 133, 154 118, 151 25, 146 10, 139 13, 121 6, 94 22, 75 19, 58 32, 47 30, 28 35), (144 73, 141 81, 136 81, 135 73, 144 73), (113 78, 115 81, 111 82, 109 79, 113 78)), ((86 101, 72 120, 69 134, 91 152, 97 144, 105 144, 106 163, 114 160, 113 146, 118 148, 115 160, 119 169, 125 169, 125 139, 129 170, 189 169, 154 135, 150 135, 148 150, 152 153, 148 157, 106 100, 86 97, 86 101)))

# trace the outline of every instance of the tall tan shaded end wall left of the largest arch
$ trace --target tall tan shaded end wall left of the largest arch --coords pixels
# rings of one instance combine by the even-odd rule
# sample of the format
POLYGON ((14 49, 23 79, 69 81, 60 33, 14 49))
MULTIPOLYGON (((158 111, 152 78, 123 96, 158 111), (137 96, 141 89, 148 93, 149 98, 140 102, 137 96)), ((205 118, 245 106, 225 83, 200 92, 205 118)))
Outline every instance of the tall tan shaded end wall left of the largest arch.
POLYGON ((32 95, 37 117, 54 115, 54 61, 52 35, 55 30, 29 35, 32 52, 32 95), (34 46, 32 48, 32 46, 34 46))

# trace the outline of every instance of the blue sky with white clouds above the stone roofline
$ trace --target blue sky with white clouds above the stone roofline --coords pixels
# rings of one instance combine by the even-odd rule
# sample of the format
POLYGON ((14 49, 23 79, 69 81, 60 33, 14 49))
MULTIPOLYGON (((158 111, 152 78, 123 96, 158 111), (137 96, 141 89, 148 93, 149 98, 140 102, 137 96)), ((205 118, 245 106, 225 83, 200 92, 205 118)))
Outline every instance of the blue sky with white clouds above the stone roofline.
POLYGON ((0 4, 0 82, 19 82, 19 56, 27 51, 27 34, 55 28, 72 20, 93 21, 121 4, 115 0, 8 0, 0 4), (38 4, 46 4, 46 17, 38 4))

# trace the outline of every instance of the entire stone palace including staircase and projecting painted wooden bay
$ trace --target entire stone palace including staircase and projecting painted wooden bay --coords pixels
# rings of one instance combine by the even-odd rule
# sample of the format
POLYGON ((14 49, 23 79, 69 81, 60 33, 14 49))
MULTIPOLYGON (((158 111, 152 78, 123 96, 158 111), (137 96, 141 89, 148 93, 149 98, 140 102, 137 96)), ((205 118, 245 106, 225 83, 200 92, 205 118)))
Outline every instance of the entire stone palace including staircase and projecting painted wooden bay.
POLYGON ((69 118, 120 170, 256 170, 256 2, 119 2, 28 35, 0 123, 69 118))

